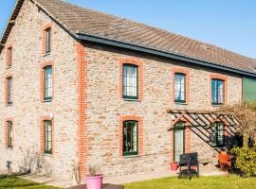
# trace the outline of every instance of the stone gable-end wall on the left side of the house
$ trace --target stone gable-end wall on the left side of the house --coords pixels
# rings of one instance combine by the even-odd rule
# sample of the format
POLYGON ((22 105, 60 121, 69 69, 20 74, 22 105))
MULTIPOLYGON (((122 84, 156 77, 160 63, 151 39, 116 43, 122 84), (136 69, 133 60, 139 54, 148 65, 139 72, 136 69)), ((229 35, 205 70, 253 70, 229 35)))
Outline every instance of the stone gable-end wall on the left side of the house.
POLYGON ((53 176, 71 178, 71 166, 77 161, 77 52, 75 40, 56 25, 31 1, 26 0, 7 44, 13 47, 11 68, 6 67, 6 49, 0 62, 0 169, 12 161, 17 171, 28 148, 40 150, 40 122, 53 115, 53 154, 46 162, 53 176), (42 29, 52 26, 50 55, 42 53, 42 29), (53 63, 53 100, 42 102, 40 73, 42 65, 53 63), (5 105, 5 76, 13 75, 13 105, 5 105), (5 147, 5 120, 13 120, 13 149, 5 147))

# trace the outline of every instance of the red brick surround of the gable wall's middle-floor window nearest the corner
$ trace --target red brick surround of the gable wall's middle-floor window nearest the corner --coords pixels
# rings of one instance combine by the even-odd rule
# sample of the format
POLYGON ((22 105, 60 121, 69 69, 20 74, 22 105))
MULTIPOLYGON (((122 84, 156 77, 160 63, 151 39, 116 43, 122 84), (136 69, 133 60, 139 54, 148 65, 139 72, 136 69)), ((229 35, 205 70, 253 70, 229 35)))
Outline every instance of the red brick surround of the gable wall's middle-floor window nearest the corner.
POLYGON ((40 100, 44 102, 44 68, 46 66, 52 67, 52 98, 51 101, 54 99, 54 61, 45 61, 40 65, 40 100))

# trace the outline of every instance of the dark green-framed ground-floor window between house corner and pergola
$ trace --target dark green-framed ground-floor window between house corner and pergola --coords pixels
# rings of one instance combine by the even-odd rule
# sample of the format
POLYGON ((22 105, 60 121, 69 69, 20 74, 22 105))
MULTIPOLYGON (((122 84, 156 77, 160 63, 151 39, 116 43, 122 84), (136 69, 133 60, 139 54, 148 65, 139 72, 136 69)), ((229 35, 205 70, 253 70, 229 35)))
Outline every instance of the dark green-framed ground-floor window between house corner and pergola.
POLYGON ((123 122, 123 156, 138 154, 138 122, 125 121, 123 122))

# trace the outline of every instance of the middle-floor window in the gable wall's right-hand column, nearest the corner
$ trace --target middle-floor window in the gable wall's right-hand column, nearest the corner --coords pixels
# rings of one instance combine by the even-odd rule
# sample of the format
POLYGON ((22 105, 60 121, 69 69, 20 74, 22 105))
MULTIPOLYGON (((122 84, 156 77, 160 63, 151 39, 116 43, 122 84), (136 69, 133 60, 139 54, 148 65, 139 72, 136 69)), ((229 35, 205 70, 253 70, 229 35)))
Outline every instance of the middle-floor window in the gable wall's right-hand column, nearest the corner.
POLYGON ((44 68, 44 100, 50 101, 52 99, 52 66, 44 68))

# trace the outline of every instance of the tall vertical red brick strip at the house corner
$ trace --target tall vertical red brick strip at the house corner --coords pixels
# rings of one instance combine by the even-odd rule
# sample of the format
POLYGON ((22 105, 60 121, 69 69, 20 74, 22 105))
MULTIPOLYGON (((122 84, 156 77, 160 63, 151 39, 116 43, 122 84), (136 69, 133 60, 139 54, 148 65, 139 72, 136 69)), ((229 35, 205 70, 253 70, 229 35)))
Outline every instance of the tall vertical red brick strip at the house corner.
POLYGON ((76 43, 78 61, 78 161, 80 173, 83 178, 86 173, 87 155, 87 61, 85 60, 85 48, 82 43, 76 43))

